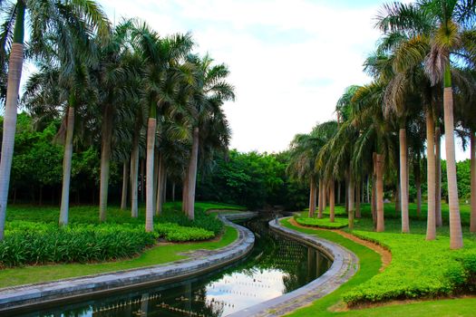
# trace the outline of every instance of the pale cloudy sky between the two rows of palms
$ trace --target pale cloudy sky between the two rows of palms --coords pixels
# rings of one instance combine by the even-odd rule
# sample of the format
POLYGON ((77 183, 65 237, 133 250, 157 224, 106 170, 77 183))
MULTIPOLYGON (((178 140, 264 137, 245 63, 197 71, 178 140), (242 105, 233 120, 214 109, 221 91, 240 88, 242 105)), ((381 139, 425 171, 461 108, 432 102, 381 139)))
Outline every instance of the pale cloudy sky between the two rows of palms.
MULTIPOLYGON (((224 106, 231 148, 279 152, 296 133, 335 119, 362 70, 383 1, 99 0, 112 21, 137 17, 160 34, 190 32, 196 53, 225 62, 236 101, 224 106)), ((444 148, 442 148, 444 149, 444 148)), ((444 152, 444 151, 442 151, 444 152)), ((469 153, 457 151, 457 159, 469 153)), ((444 157, 444 153, 443 153, 444 157)))

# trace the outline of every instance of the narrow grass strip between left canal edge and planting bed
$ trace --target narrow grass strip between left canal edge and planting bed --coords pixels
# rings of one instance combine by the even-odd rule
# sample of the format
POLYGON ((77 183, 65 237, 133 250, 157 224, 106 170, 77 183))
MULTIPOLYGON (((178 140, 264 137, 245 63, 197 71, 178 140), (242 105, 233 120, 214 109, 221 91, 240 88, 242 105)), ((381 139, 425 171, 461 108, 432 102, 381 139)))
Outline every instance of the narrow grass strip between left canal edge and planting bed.
POLYGON ((78 277, 89 274, 102 274, 144 266, 164 264, 188 257, 187 255, 179 255, 179 253, 199 249, 215 250, 231 244, 237 238, 237 230, 231 226, 225 226, 225 232, 219 241, 154 246, 151 249, 146 250, 138 257, 122 261, 101 264, 54 264, 25 266, 0 270, 0 287, 21 285, 26 283, 48 282, 63 278, 78 277))

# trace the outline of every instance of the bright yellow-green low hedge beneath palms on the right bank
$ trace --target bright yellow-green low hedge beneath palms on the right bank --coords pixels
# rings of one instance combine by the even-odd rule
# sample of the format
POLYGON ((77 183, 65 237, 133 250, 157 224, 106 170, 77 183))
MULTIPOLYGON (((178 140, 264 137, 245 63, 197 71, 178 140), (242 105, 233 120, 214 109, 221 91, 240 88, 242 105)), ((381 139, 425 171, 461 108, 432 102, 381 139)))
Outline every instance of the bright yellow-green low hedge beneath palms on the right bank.
MULTIPOLYGON (((392 263, 383 273, 343 295, 349 305, 389 300, 433 298, 476 290, 476 250, 450 250, 449 239, 425 241, 423 235, 358 232, 392 251, 392 263)), ((473 244, 473 243, 472 243, 473 244)))

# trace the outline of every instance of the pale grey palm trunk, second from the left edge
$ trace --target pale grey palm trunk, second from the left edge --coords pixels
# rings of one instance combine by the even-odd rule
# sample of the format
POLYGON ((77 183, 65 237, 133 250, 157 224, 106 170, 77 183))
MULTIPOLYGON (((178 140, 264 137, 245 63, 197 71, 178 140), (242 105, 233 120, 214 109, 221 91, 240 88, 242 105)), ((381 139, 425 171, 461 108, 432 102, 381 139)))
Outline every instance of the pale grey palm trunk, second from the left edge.
MULTIPOLYGON (((70 98, 70 103, 74 102, 74 97, 70 98)), ((73 159, 73 133, 74 133, 74 104, 68 108, 68 118, 66 119, 66 139, 64 140, 63 156, 63 188, 61 194, 60 226, 68 225, 68 215, 70 209, 70 187, 71 187, 71 163, 73 159)))

